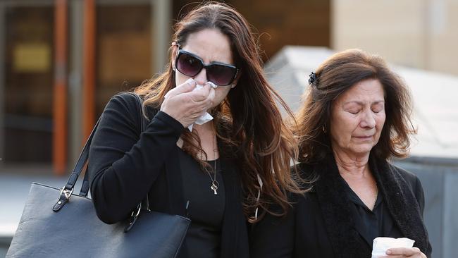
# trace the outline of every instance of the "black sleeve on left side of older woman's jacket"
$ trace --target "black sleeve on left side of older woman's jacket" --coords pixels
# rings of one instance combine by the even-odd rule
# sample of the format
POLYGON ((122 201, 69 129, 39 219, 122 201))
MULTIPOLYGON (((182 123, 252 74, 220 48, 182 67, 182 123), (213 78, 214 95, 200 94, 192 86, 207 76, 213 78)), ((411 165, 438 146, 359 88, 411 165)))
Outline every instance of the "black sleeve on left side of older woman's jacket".
POLYGON ((250 234, 250 257, 292 257, 294 250, 295 212, 289 209, 286 216, 266 214, 252 225, 250 234))

